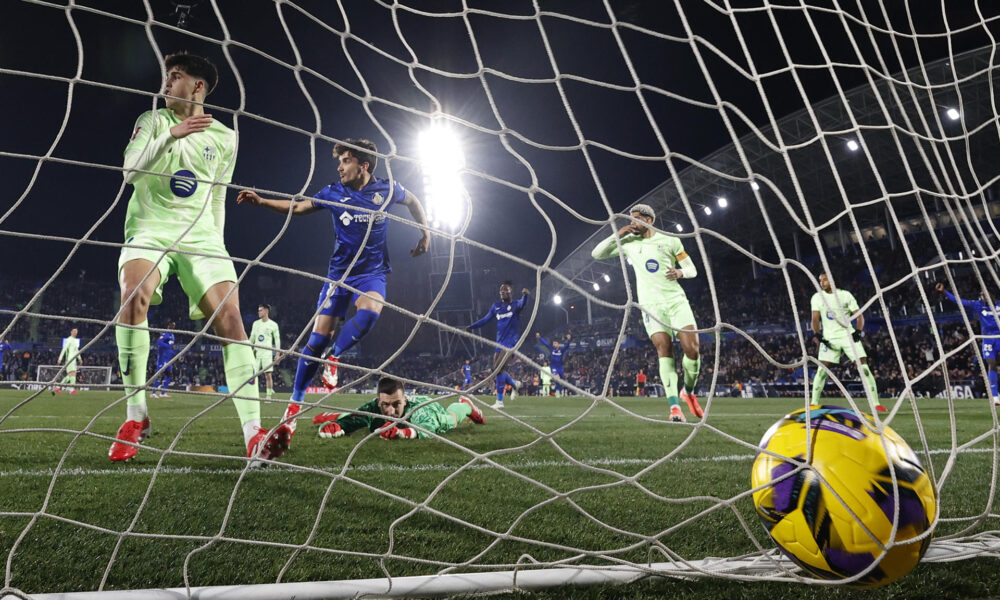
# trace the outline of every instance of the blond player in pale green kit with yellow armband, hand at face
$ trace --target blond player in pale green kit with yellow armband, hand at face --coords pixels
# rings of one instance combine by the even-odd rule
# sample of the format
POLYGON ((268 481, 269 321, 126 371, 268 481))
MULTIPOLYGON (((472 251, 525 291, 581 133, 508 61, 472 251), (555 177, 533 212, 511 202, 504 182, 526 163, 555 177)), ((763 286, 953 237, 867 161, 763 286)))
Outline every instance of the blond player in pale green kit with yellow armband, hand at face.
POLYGON ((624 254, 635 272, 636 297, 643 323, 659 357, 660 379, 670 402, 670 420, 684 421, 677 392, 674 366, 674 336, 681 342, 684 358, 684 387, 680 398, 696 417, 704 412, 694 395, 701 370, 701 351, 695 331, 694 313, 678 280, 698 275, 694 261, 678 238, 653 229, 656 213, 648 204, 636 204, 629 211, 635 221, 619 229, 591 252, 597 260, 624 254))

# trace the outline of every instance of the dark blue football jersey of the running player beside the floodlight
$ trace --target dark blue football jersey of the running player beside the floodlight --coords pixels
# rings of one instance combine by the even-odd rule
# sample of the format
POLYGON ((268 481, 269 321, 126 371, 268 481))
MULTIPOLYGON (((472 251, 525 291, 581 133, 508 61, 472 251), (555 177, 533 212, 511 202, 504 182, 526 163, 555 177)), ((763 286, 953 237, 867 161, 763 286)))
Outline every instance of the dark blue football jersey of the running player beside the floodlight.
POLYGON ((313 202, 313 206, 330 211, 333 226, 337 230, 337 245, 330 257, 331 279, 342 277, 351 262, 354 262, 351 275, 392 271, 386 241, 388 219, 384 214, 358 209, 385 212, 393 204, 402 202, 405 194, 406 191, 399 183, 372 177, 368 185, 360 190, 353 190, 336 181, 313 196, 326 201, 313 202), (371 233, 368 232, 369 224, 371 233))

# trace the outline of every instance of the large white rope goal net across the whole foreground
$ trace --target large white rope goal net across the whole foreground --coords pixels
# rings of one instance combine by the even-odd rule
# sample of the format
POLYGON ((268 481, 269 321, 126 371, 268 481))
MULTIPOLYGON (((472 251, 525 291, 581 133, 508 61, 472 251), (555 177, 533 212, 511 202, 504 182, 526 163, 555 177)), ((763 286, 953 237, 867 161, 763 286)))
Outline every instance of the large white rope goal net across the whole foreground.
MULTIPOLYGON (((5 379, 61 378, 51 363, 71 328, 84 356, 118 364, 121 153, 135 117, 163 107, 166 54, 219 67, 206 112, 237 135, 231 184, 183 171, 173 193, 227 188, 245 327, 258 303, 280 323, 264 427, 282 419, 296 361, 314 360, 302 349, 334 229, 236 194, 308 200, 340 177, 334 144, 367 137, 375 174, 423 201, 433 235, 411 257, 411 214, 368 212, 389 221, 384 307, 341 356, 338 393, 310 387, 291 449, 266 469, 245 457, 240 392, 220 390, 231 340, 187 318, 173 280, 138 332, 154 348, 173 333, 177 354, 151 361, 143 388, 171 378, 193 392, 149 401, 152 437, 130 463, 106 458, 134 393, 117 367, 81 367, 77 385, 110 391, 72 407, 0 391, 0 596, 570 598, 627 584, 622 595, 662 597, 683 582, 705 597, 798 597, 796 584, 840 582, 777 550, 750 467, 819 370, 824 403, 867 413, 880 398, 875 419, 937 486, 933 541, 895 592, 982 581, 1000 555, 1000 13, 956 4, 6 2, 0 251, 30 260, 0 275, 0 341, 28 348, 3 355, 5 379), (658 307, 639 302, 634 273, 660 265, 592 255, 637 203, 697 270, 680 285, 701 419, 668 416, 646 329, 658 307), (820 364, 820 273, 858 301, 879 398, 863 365, 820 364), (519 389, 498 410, 493 325, 466 328, 506 280, 504 302, 528 294, 506 369, 519 389), (981 296, 985 313, 962 303, 981 296), (552 388, 568 395, 539 395, 555 350, 536 333, 565 349, 552 388), (386 442, 310 423, 358 410, 382 375, 448 406, 466 360, 484 425, 386 442)), ((334 226, 352 219, 332 212, 334 226)), ((671 351, 683 382, 682 344, 671 351)))

